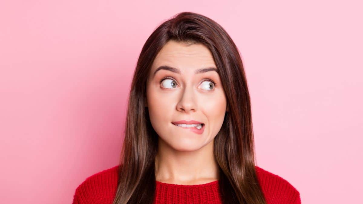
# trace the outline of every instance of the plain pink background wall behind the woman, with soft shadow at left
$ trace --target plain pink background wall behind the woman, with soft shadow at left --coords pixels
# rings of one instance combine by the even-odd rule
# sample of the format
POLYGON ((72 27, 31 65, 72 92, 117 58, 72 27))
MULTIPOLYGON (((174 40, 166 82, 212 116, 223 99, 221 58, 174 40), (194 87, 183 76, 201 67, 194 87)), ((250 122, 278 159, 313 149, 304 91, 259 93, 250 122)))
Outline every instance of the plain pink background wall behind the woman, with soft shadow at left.
POLYGON ((359 1, 1 1, 0 198, 71 203, 118 164, 142 45, 192 11, 231 35, 252 99, 257 165, 302 203, 357 203, 362 191, 359 1))

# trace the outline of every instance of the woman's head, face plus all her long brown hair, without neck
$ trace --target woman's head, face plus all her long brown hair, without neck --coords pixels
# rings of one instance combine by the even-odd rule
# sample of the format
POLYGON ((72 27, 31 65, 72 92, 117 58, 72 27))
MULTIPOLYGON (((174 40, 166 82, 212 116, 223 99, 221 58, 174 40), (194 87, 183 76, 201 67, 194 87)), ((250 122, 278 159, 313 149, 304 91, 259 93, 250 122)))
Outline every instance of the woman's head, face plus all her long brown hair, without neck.
POLYGON ((141 50, 114 203, 152 203, 159 139, 179 151, 197 150, 214 139, 223 202, 265 203, 254 166, 250 97, 241 57, 227 32, 206 16, 179 13, 159 25, 141 50), (205 68, 211 70, 195 73, 205 68), (180 120, 204 123, 204 132, 172 124, 180 120))

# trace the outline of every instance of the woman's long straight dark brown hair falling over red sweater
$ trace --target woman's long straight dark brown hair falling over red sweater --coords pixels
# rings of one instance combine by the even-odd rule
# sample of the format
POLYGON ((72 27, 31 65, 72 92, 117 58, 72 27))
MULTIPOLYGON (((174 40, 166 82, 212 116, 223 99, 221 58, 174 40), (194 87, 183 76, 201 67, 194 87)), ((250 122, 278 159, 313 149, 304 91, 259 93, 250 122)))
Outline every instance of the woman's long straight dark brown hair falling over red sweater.
POLYGON ((152 63, 170 40, 207 46, 219 70, 229 107, 214 142, 222 202, 266 204, 255 169, 250 96, 240 53, 219 24, 193 12, 178 13, 159 25, 141 50, 131 83, 113 204, 153 203, 158 135, 144 105, 152 63))

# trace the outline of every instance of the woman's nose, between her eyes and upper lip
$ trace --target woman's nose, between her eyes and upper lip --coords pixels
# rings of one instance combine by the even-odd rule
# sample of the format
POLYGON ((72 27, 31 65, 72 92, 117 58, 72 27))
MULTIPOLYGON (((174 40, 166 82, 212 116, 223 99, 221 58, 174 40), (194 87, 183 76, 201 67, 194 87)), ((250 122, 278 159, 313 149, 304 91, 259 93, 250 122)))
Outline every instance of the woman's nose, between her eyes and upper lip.
POLYGON ((184 111, 185 113, 189 113, 190 111, 196 111, 197 103, 194 95, 194 90, 192 86, 186 87, 183 91, 180 92, 180 100, 176 106, 178 111, 184 111))

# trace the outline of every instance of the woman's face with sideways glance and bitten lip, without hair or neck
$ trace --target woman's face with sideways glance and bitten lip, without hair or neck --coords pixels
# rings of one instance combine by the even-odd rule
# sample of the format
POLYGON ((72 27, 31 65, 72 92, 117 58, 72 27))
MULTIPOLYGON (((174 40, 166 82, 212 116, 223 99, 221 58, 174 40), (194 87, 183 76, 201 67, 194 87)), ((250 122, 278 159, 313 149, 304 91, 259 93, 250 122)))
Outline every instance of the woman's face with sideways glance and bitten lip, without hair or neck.
POLYGON ((227 101, 221 79, 213 69, 197 72, 205 68, 216 69, 206 46, 176 41, 168 41, 152 64, 146 93, 151 125, 159 140, 175 150, 204 147, 222 126, 227 101), (160 66, 171 70, 158 69, 160 66), (204 123, 204 127, 199 130, 174 124, 182 120, 204 123))

